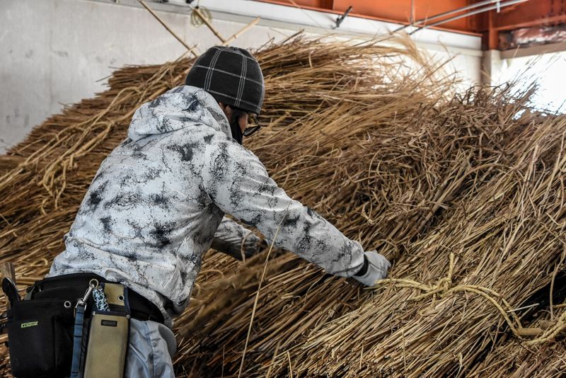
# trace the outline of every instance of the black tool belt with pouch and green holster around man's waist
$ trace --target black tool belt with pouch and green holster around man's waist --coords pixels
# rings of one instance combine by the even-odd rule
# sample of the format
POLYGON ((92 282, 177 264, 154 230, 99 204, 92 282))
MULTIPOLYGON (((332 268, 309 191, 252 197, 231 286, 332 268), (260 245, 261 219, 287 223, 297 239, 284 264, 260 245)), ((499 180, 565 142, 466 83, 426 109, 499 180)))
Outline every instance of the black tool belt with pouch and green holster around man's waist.
POLYGON ((23 301, 6 292, 16 378, 122 377, 129 319, 163 323, 147 299, 91 273, 45 278, 26 291, 23 301))

